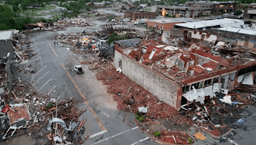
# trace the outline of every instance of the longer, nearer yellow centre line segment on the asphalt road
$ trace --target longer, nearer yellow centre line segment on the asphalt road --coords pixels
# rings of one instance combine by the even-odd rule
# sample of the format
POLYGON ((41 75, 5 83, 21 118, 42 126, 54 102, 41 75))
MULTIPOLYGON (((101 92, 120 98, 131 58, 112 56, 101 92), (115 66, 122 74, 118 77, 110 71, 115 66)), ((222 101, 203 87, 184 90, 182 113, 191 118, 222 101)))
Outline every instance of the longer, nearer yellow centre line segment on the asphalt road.
POLYGON ((100 128, 102 130, 106 130, 105 127, 102 125, 102 123, 100 122, 99 118, 97 118, 95 112, 93 111, 92 107, 90 107, 89 103, 87 102, 86 98, 84 97, 83 93, 81 92, 81 90, 78 88, 78 86, 76 85, 76 82, 74 81, 74 79, 71 78, 70 74, 66 71, 65 67, 63 64, 61 64, 61 66, 63 67, 63 69, 65 70, 65 72, 67 73, 68 75, 68 78, 70 78, 70 80, 72 81, 72 83, 75 85, 77 91, 80 93, 80 95, 83 97, 84 99, 84 102, 87 104, 87 106, 89 107, 90 111, 92 112, 94 118, 97 120, 97 122, 99 123, 100 125, 100 128))

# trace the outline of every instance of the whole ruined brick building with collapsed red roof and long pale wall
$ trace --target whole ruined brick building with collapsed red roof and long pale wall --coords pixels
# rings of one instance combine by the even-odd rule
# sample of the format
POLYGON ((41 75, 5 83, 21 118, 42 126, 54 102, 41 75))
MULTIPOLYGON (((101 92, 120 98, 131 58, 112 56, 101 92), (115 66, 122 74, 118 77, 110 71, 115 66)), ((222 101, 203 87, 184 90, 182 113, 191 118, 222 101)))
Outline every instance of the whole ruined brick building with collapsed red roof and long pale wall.
POLYGON ((225 43, 224 36, 207 31, 179 31, 179 37, 161 36, 165 43, 116 41, 115 68, 177 110, 189 102, 204 104, 216 92, 227 94, 239 85, 253 85, 253 48, 225 43))

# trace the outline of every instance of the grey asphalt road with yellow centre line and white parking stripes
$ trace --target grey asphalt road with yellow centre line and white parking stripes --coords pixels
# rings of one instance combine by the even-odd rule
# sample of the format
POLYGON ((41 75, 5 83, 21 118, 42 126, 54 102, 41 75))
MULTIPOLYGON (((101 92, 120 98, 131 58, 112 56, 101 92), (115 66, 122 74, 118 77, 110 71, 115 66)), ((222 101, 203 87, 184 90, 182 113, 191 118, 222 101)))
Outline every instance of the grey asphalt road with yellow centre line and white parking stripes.
POLYGON ((29 60, 38 72, 33 74, 33 85, 40 93, 49 93, 51 97, 65 99, 74 97, 79 101, 77 106, 87 109, 80 116, 80 120, 87 119, 84 127, 84 136, 95 135, 84 144, 156 144, 149 140, 141 141, 147 137, 134 123, 134 114, 116 110, 116 102, 106 91, 101 81, 97 81, 95 72, 90 71, 86 65, 84 74, 76 74, 70 67, 79 64, 76 54, 69 52, 61 46, 54 46, 54 36, 63 32, 81 32, 100 30, 100 23, 93 27, 71 27, 66 31, 45 31, 33 33, 31 37, 32 48, 36 57, 29 60), (51 92, 51 93, 50 93, 51 92), (99 120, 99 121, 97 121, 99 120), (129 124, 129 125, 128 125, 129 124), (102 135, 104 137, 95 142, 102 135))

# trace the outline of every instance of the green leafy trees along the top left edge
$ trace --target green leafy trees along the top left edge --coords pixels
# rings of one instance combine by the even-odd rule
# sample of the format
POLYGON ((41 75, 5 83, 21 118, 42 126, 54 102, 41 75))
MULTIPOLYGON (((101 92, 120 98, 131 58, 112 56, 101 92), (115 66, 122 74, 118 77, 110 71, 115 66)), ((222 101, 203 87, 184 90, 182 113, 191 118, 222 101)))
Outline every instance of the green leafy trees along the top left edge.
MULTIPOLYGON (((52 0, 8 0, 5 3, 9 5, 0 5, 0 31, 8 29, 24 29, 25 24, 35 23, 35 22, 52 22, 51 19, 45 18, 35 18, 29 17, 28 13, 25 15, 20 14, 21 11, 25 11, 31 4, 42 4, 51 3, 52 0), (21 7, 18 5, 21 4, 21 7), (10 7, 11 6, 11 7, 10 7)), ((81 13, 84 10, 90 10, 92 7, 86 6, 86 3, 90 0, 75 0, 76 3, 65 3, 67 0, 58 0, 61 2, 60 6, 67 8, 67 11, 61 10, 63 17, 74 17, 81 13)), ((102 1, 102 0, 97 0, 102 1)), ((110 0, 108 0, 110 1, 110 0)))

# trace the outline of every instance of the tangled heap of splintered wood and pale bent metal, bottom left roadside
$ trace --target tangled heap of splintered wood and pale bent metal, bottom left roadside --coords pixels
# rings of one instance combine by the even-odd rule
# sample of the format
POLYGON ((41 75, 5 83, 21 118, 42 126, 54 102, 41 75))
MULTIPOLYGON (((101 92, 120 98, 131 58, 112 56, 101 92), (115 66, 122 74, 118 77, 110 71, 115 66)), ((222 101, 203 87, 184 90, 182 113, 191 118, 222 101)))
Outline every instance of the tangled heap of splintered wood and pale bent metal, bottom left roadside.
POLYGON ((76 101, 72 98, 58 102, 58 106, 56 100, 52 99, 52 104, 49 105, 44 111, 47 111, 46 114, 49 114, 48 116, 50 118, 47 130, 51 132, 46 136, 52 141, 52 144, 54 141, 65 144, 70 144, 71 142, 81 144, 81 142, 87 139, 86 137, 88 137, 88 135, 85 138, 78 135, 84 134, 85 128, 83 126, 84 123, 86 123, 86 119, 79 121, 78 117, 81 116, 86 109, 78 109, 75 107, 76 101), (57 114, 56 110, 58 110, 57 114))

